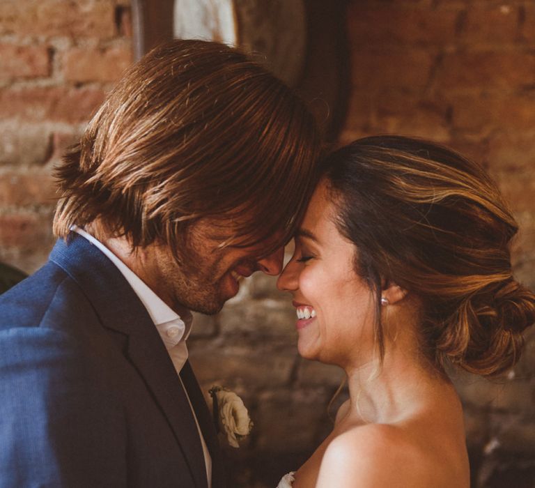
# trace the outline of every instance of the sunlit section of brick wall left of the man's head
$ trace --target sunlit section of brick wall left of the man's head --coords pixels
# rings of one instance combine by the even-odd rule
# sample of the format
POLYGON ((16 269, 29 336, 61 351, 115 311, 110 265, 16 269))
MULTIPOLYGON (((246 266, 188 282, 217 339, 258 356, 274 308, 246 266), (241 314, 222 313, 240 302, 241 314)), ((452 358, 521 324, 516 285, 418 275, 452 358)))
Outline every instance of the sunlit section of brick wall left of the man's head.
POLYGON ((51 169, 132 59, 127 4, 0 1, 0 261, 52 247, 51 169))

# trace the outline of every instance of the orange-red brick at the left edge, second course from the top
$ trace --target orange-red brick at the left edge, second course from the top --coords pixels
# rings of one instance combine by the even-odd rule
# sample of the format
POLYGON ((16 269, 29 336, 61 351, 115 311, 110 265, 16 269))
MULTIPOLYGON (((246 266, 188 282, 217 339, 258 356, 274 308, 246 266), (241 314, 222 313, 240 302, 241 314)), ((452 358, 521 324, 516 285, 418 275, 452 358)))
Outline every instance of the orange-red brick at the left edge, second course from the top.
POLYGON ((0 79, 49 75, 50 55, 46 46, 0 44, 0 79))

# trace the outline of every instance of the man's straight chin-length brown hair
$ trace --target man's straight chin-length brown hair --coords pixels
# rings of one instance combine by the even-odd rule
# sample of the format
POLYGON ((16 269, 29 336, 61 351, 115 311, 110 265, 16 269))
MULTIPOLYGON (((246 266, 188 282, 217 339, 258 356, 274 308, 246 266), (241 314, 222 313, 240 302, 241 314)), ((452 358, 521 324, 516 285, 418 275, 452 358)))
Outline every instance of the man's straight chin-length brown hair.
POLYGON ((319 146, 303 102, 259 64, 174 40, 127 70, 56 168, 54 232, 98 219, 180 259, 190 224, 224 216, 233 245, 278 247, 309 199, 319 146))

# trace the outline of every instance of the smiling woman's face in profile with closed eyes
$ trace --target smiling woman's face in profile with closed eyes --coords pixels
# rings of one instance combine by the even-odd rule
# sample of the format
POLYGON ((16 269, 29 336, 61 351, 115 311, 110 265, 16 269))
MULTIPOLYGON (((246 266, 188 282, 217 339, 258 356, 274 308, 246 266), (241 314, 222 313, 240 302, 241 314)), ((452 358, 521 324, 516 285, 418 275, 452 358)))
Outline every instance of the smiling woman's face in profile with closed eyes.
POLYGON ((360 367, 373 359, 375 298, 355 273, 355 245, 336 229, 335 210, 320 183, 277 286, 293 295, 301 356, 360 367))

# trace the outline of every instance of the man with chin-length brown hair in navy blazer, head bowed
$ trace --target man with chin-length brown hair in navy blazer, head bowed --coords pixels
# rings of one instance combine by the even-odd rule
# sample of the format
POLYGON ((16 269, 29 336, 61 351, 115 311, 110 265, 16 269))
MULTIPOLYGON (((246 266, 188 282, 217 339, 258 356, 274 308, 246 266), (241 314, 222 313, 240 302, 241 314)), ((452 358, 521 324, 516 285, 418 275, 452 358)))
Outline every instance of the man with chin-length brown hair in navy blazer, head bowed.
POLYGON ((317 153, 235 49, 176 40, 125 73, 56 169, 48 263, 0 297, 2 487, 224 486, 189 311, 280 272, 317 153))

